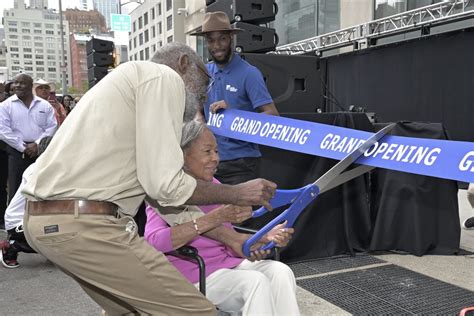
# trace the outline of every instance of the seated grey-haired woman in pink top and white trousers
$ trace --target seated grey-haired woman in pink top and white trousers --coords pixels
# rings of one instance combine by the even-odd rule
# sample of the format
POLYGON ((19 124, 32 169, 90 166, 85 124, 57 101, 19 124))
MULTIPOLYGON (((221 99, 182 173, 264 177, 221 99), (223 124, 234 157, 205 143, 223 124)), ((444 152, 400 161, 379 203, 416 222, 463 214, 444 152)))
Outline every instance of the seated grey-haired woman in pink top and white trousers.
MULTIPOLYGON (((184 125, 181 147, 184 169, 196 179, 214 181, 219 164, 217 144, 212 132, 202 123, 191 121, 184 125)), ((251 258, 238 255, 241 250, 200 236, 220 225, 232 229, 224 222, 233 219, 238 210, 233 206, 200 206, 204 216, 191 222, 169 226, 152 207, 147 208, 145 239, 157 250, 170 252, 185 244, 199 250, 206 263, 206 295, 220 310, 243 315, 299 315, 295 296, 295 277, 284 263, 263 259, 268 252, 254 251, 251 258), (256 260, 256 261, 254 261, 256 260)), ((248 211, 248 215, 251 211, 248 211)), ((277 225, 261 242, 275 241, 287 244, 292 228, 277 225)), ((238 234, 247 239, 248 235, 238 234)), ((259 245, 261 246, 261 244, 259 245)), ((197 286, 198 267, 195 263, 168 255, 168 260, 191 283, 197 286)))

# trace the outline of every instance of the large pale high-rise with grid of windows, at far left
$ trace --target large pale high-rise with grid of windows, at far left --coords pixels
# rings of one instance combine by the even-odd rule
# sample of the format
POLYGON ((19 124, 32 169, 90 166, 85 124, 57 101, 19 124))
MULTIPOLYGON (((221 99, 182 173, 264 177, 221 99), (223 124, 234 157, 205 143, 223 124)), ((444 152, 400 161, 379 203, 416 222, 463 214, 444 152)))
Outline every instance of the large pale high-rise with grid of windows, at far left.
POLYGON ((64 51, 61 51, 59 14, 53 10, 25 8, 24 0, 15 0, 14 4, 15 8, 5 10, 3 17, 9 78, 27 73, 33 79, 60 83, 65 56, 66 83, 70 84, 68 23, 63 23, 64 51))

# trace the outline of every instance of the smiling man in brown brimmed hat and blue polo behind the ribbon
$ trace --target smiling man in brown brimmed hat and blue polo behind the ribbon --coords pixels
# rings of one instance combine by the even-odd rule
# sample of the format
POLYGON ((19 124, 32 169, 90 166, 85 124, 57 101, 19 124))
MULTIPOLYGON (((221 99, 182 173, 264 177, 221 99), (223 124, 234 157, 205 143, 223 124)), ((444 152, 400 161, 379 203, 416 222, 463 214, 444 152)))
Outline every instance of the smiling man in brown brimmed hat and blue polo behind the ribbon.
MULTIPOLYGON (((232 36, 242 31, 232 28, 224 12, 206 13, 202 31, 191 35, 204 36, 212 62, 207 71, 212 77, 208 87, 204 115, 219 109, 237 109, 279 115, 261 72, 233 53, 232 36)), ((219 164, 215 177, 222 183, 238 184, 259 176, 258 145, 216 135, 219 164)))

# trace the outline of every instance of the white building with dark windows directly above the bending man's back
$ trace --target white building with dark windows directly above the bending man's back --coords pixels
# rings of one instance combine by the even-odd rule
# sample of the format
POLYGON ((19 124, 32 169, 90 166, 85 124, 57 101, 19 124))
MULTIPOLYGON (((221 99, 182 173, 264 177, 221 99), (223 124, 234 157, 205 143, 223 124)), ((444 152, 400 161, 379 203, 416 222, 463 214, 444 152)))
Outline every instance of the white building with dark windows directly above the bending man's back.
POLYGON ((184 33, 184 0, 145 0, 131 13, 129 60, 148 60, 170 42, 186 42, 184 33))

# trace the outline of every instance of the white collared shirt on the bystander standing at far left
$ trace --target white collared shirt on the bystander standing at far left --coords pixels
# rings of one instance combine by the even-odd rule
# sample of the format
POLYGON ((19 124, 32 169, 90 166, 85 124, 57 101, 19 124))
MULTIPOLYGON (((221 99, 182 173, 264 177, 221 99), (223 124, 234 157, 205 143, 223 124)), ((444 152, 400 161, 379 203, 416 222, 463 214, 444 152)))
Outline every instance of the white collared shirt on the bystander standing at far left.
POLYGON ((19 152, 25 143, 53 135, 56 127, 53 107, 41 98, 34 96, 29 108, 16 95, 0 104, 0 139, 19 152))

